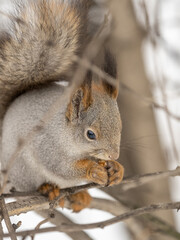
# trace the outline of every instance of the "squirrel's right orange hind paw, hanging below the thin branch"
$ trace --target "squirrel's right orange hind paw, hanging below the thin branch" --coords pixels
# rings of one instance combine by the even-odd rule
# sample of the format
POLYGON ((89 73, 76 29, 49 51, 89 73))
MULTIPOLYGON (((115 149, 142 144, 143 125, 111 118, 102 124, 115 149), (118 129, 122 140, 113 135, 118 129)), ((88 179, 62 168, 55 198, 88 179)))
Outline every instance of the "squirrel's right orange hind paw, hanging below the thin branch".
POLYGON ((71 203, 70 207, 73 212, 79 212, 89 206, 92 198, 87 191, 81 191, 70 195, 68 200, 71 203))

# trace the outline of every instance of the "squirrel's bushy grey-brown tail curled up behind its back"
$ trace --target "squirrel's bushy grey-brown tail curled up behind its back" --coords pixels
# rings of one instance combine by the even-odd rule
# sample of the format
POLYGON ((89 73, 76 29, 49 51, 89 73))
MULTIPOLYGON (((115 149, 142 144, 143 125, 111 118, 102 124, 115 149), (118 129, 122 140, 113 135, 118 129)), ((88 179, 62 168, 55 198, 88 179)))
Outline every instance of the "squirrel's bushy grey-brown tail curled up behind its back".
POLYGON ((30 0, 16 6, 9 30, 0 32, 0 117, 17 94, 59 80, 73 67, 90 5, 79 2, 30 0))

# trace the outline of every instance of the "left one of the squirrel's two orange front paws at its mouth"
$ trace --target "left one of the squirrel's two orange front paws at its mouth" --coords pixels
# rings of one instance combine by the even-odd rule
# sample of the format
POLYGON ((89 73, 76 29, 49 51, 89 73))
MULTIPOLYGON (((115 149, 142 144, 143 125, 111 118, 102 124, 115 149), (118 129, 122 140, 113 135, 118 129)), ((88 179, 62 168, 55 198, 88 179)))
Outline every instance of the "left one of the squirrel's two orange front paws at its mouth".
POLYGON ((90 164, 86 172, 86 177, 88 180, 100 185, 106 185, 108 183, 108 173, 106 168, 96 162, 90 164))

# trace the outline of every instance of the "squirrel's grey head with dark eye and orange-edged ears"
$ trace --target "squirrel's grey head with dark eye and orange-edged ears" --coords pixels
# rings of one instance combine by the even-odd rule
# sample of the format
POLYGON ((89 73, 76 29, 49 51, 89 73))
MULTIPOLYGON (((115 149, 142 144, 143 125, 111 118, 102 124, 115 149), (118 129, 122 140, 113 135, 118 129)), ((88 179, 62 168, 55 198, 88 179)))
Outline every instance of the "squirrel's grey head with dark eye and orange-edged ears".
POLYGON ((121 118, 117 89, 105 82, 86 82, 72 96, 66 117, 80 154, 104 160, 119 157, 121 118))

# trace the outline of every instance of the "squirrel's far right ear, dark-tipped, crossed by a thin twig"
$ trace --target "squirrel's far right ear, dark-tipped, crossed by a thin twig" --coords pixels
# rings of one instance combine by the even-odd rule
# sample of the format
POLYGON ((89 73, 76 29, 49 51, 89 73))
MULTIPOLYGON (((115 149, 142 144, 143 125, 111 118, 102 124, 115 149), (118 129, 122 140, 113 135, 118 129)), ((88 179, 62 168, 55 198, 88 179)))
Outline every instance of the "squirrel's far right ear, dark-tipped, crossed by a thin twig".
POLYGON ((105 51, 104 72, 114 78, 114 85, 103 81, 105 92, 112 98, 116 99, 119 91, 119 84, 117 78, 117 63, 113 55, 109 51, 105 51))

